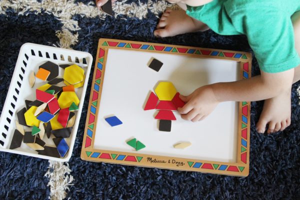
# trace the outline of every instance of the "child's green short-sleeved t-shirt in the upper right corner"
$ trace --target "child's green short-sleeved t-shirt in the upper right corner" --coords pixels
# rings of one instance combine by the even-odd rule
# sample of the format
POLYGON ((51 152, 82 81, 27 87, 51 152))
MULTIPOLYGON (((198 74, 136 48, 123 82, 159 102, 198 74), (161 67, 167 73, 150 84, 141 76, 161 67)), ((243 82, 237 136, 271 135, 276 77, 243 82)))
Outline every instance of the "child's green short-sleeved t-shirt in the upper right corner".
POLYGON ((300 0, 213 0, 186 14, 218 34, 245 34, 260 69, 274 73, 300 64, 291 21, 299 10, 300 0))

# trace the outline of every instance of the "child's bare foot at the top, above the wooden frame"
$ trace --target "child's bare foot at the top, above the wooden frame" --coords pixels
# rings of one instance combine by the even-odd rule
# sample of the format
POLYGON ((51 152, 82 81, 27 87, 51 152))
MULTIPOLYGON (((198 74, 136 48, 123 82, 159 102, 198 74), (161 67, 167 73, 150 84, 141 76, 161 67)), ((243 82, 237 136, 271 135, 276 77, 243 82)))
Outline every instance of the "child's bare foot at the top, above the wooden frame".
POLYGON ((167 37, 186 32, 196 32, 207 30, 206 24, 188 16, 184 10, 167 9, 159 19, 159 23, 154 30, 155 36, 167 37))

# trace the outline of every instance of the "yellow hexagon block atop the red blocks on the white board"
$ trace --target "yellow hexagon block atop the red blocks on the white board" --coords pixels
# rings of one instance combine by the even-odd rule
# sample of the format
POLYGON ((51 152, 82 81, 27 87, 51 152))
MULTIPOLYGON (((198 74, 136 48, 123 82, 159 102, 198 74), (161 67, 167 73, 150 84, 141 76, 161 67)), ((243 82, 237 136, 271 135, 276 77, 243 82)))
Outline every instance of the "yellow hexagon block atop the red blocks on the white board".
POLYGON ((177 92, 171 82, 159 82, 154 91, 159 100, 172 100, 177 92))

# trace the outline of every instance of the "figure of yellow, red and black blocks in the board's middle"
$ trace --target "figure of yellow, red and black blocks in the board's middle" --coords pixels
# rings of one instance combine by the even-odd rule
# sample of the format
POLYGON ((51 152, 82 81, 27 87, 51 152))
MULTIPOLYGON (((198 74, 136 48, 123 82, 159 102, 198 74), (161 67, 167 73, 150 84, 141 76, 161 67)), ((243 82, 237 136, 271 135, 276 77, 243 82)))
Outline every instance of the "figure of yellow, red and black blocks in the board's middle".
POLYGON ((151 92, 144 110, 159 110, 155 119, 159 121, 159 130, 171 131, 171 120, 176 120, 173 111, 178 107, 182 107, 185 103, 179 98, 179 92, 171 82, 159 82, 157 87, 151 92))

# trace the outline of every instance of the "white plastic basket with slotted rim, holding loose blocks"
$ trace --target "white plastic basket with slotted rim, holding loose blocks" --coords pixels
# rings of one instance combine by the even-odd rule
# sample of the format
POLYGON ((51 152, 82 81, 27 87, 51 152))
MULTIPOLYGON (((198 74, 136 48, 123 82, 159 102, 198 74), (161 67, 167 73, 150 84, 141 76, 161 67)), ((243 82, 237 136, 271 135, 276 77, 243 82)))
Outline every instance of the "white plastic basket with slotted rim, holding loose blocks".
MULTIPOLYGON (((19 55, 15 64, 13 76, 9 85, 8 93, 2 109, 0 117, 0 151, 12 152, 22 155, 39 157, 44 159, 67 161, 69 160, 74 141, 76 138, 77 128, 81 116, 82 105, 84 101, 85 91, 87 87, 89 72, 92 63, 92 56, 88 52, 45 46, 40 44, 25 43, 21 46, 19 55), (65 138, 69 145, 69 150, 63 158, 56 158, 37 154, 37 151, 31 149, 22 142, 21 146, 16 149, 9 149, 10 142, 16 128, 15 120, 17 120, 16 112, 25 106, 25 99, 35 100, 35 89, 46 82, 39 79, 35 80, 34 86, 31 88, 28 83, 30 71, 37 71, 40 64, 45 61, 51 61, 56 64, 77 64, 84 69, 85 80, 83 87, 76 88, 76 94, 80 100, 79 109, 75 113, 76 119, 70 137, 65 138)), ((62 68, 59 67, 59 76, 62 76, 62 68)), ((24 127, 26 131, 26 127, 24 127)), ((55 146, 50 138, 44 136, 46 145, 55 146)))

